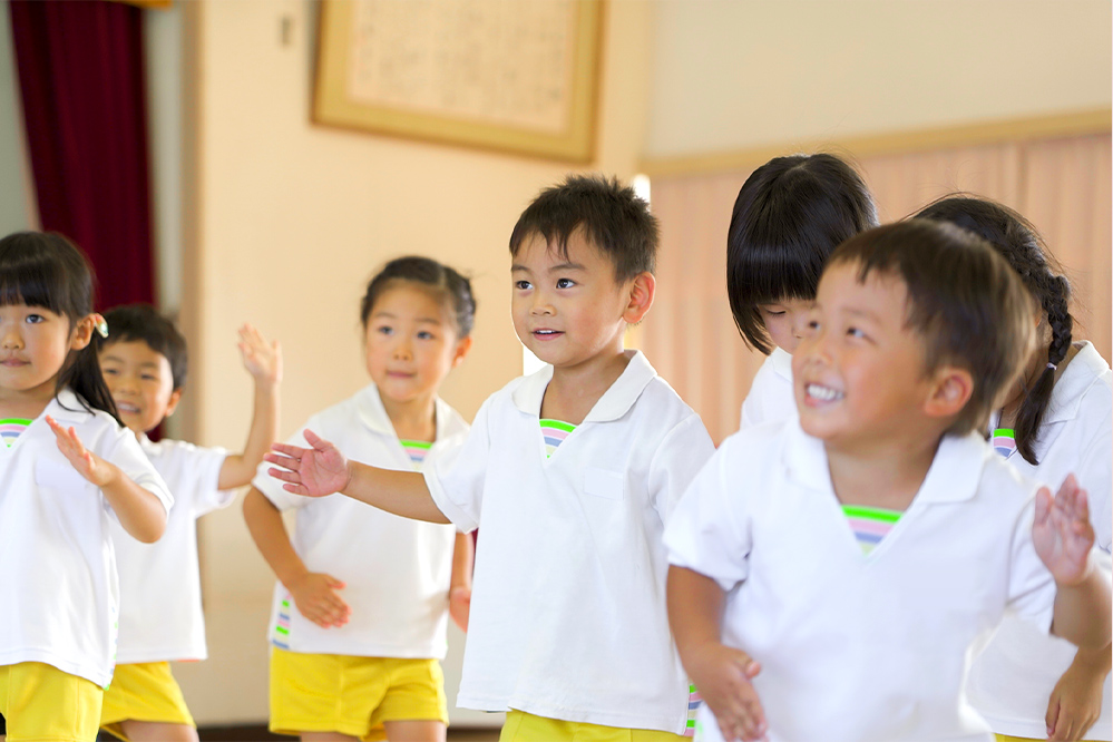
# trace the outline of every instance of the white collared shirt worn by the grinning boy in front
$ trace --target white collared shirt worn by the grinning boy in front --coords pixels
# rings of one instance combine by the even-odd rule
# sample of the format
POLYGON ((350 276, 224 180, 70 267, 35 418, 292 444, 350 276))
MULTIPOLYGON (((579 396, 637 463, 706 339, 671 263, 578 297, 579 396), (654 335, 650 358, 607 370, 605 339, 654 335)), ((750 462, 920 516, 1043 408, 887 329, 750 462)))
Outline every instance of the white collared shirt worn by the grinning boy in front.
MULTIPOLYGON (((762 665, 753 685, 770 742, 988 742, 963 697, 970 653, 1006 607, 1051 626, 1034 492, 977 433, 944 438, 912 504, 865 556, 822 441, 793 419, 723 441, 665 544, 672 564, 728 592, 723 643, 762 665)), ((721 739, 706 707, 697 724, 721 739)))

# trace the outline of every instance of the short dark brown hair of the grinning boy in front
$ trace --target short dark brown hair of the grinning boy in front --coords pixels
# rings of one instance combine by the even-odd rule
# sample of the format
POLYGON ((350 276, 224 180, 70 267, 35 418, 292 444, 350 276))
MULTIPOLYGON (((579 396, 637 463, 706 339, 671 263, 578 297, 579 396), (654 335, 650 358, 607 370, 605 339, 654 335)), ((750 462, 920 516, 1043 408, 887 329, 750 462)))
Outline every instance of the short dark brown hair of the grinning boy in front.
POLYGON ((899 279, 908 292, 906 326, 925 343, 925 372, 969 371, 974 390, 948 433, 985 431, 989 412, 1016 378, 1032 343, 1032 297, 989 244, 954 225, 907 219, 842 243, 828 267, 858 266, 899 279))

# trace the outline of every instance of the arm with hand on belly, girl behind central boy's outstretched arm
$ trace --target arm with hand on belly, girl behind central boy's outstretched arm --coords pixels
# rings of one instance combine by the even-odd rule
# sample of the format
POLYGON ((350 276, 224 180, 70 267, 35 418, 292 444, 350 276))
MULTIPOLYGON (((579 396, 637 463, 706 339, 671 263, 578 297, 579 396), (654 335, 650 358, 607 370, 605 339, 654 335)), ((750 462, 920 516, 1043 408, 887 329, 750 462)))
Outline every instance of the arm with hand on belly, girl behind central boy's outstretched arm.
POLYGON ((338 592, 344 584, 332 575, 309 570, 290 543, 282 514, 254 487, 244 497, 244 520, 258 553, 290 590, 297 611, 323 628, 346 624, 352 609, 338 592))

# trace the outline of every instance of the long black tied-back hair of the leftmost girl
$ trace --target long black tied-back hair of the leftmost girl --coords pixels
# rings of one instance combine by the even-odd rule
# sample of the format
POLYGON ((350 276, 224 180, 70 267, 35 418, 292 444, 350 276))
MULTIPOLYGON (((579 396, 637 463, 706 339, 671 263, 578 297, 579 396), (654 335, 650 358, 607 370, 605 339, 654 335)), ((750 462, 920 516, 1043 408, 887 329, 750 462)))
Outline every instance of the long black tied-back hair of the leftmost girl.
MULTIPOLYGON (((41 306, 69 320, 70 330, 92 312, 94 275, 89 260, 56 233, 17 232, 0 240, 0 306, 41 306)), ((96 332, 80 351, 70 351, 58 373, 55 393, 69 388, 86 410, 104 410, 120 422, 100 372, 96 332)))

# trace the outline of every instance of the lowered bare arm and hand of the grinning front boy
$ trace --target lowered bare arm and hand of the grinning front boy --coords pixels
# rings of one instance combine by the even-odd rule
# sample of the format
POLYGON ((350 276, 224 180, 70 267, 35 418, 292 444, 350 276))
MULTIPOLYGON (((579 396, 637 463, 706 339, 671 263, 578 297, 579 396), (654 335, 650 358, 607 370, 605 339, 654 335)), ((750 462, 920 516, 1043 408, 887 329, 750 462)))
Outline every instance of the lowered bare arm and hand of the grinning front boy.
POLYGON ((728 742, 765 739, 765 713, 750 681, 761 666, 722 643, 723 590, 705 575, 668 567, 668 625, 692 683, 728 742))

